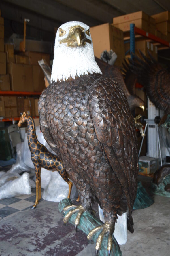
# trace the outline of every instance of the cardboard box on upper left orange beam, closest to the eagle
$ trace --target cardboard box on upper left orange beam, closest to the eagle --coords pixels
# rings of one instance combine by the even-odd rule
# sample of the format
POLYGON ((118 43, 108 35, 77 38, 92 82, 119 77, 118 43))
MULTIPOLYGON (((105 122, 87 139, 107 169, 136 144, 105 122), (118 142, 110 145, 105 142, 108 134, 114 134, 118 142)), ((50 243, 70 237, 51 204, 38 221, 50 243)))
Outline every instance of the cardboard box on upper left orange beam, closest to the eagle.
POLYGON ((45 89, 44 73, 37 65, 33 65, 33 88, 35 92, 42 92, 45 89))

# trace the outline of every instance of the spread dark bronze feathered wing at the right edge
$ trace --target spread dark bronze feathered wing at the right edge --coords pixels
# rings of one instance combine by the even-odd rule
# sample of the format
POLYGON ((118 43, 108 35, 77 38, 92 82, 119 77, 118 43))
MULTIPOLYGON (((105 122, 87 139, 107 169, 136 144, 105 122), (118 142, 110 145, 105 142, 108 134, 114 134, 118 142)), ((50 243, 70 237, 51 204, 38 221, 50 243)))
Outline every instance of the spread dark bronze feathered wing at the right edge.
POLYGON ((158 63, 152 56, 147 58, 141 51, 141 58, 134 55, 129 59, 130 69, 137 75, 150 101, 165 113, 170 113, 170 67, 158 63))

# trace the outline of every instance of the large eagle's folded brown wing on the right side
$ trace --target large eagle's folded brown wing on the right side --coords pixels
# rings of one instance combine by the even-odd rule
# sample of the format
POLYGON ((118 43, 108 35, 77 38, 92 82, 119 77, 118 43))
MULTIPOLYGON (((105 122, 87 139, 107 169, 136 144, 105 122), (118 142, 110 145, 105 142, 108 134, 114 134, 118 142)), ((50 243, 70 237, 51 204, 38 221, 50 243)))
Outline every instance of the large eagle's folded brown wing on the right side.
POLYGON ((114 80, 101 77, 90 87, 89 110, 97 139, 126 195, 131 216, 137 192, 138 153, 126 96, 114 80))

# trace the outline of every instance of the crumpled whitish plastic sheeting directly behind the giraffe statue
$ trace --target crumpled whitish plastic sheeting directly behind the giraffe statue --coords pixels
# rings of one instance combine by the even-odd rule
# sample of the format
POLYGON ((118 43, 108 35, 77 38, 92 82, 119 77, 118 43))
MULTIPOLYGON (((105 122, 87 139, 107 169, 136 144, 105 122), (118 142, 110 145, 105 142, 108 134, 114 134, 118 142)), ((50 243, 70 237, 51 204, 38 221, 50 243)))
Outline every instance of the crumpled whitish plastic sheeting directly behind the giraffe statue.
MULTIPOLYGON (((48 146, 43 134, 39 127, 36 127, 36 135, 38 141, 46 146, 46 148, 52 152, 54 151, 48 146)), ((31 152, 28 146, 27 133, 25 134, 24 142, 18 143, 16 147, 17 160, 12 168, 7 173, 21 173, 25 172, 35 172, 33 162, 31 161, 31 152)), ((36 177, 34 177, 35 181, 36 177)), ((52 172, 44 168, 41 168, 41 188, 44 188, 42 193, 42 198, 44 200, 60 202, 63 198, 67 198, 69 192, 68 184, 61 178, 57 171, 52 172)), ((78 193, 75 185, 73 184, 71 190, 71 200, 78 197, 78 193)))

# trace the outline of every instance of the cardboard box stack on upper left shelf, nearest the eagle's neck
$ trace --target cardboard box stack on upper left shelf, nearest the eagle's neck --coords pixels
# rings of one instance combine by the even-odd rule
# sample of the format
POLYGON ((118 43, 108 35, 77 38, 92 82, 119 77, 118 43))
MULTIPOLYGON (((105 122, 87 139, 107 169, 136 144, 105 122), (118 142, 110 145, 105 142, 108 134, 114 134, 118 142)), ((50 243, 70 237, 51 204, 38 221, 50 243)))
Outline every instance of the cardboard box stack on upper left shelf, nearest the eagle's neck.
POLYGON ((12 91, 41 92, 45 88, 44 73, 38 64, 42 58, 50 65, 50 55, 26 51, 14 55, 13 45, 5 45, 7 73, 12 91))

